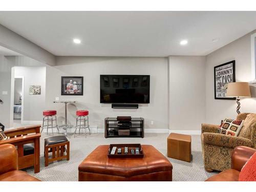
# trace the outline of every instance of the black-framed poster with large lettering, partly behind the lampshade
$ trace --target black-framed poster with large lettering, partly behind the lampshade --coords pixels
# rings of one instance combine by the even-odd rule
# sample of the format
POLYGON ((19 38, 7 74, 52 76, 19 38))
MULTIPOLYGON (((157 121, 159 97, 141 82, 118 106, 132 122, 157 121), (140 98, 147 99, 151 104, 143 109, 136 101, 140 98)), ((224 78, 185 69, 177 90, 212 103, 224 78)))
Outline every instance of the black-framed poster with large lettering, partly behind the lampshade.
MULTIPOLYGON (((235 60, 225 62, 222 65, 214 67, 214 98, 215 99, 227 99, 227 100, 236 99, 236 97, 225 97, 225 96, 218 97, 217 96, 217 91, 219 91, 219 90, 221 90, 223 92, 226 91, 226 90, 221 89, 226 84, 226 83, 223 84, 223 80, 224 80, 223 78, 225 78, 226 83, 236 82, 236 61, 235 60), (223 69, 223 71, 226 70, 226 72, 225 71, 223 72, 225 74, 221 74, 221 72, 219 72, 219 74, 218 74, 218 69, 219 69, 219 71, 221 71, 221 69, 223 69), (227 71, 227 69, 229 71, 227 71), (232 74, 230 74, 230 70, 232 71, 232 74), (216 74, 216 72, 217 72, 217 74, 216 74), (230 77, 232 78, 231 80, 228 79, 230 77), (219 82, 217 82, 217 81, 219 81, 219 82), (217 89, 217 86, 220 86, 220 87, 217 89)), ((220 93, 220 94, 225 94, 225 93, 220 93)))

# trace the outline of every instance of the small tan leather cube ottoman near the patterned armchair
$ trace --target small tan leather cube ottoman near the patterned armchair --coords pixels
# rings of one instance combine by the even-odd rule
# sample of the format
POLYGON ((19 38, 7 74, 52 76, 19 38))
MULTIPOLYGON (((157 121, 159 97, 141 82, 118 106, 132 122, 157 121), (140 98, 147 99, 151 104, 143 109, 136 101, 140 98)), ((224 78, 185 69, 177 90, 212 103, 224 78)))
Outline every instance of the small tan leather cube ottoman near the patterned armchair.
POLYGON ((170 133, 167 138, 167 156, 182 161, 191 161, 191 136, 170 133))

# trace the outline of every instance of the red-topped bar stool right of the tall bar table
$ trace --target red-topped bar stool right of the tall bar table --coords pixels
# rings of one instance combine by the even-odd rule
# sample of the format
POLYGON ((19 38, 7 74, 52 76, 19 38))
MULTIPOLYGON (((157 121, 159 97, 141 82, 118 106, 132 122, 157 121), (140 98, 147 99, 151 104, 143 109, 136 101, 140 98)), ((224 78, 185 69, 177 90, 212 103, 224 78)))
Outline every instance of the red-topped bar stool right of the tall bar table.
MULTIPOLYGON (((76 111, 76 130, 79 129, 79 134, 80 134, 80 129, 89 129, 90 131, 90 126, 89 126, 89 111, 86 110, 78 110, 76 111)), ((75 133, 76 133, 75 130, 75 133)))

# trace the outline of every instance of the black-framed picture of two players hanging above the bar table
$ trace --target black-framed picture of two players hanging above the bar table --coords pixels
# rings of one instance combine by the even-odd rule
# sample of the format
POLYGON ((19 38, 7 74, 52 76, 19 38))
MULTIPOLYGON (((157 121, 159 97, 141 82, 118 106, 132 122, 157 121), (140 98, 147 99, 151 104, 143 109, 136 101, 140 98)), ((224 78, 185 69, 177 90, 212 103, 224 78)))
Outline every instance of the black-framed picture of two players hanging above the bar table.
POLYGON ((61 95, 83 95, 83 76, 61 76, 61 95), (71 80, 72 86, 68 89, 68 83, 71 80), (74 86, 76 86, 75 89, 74 86))

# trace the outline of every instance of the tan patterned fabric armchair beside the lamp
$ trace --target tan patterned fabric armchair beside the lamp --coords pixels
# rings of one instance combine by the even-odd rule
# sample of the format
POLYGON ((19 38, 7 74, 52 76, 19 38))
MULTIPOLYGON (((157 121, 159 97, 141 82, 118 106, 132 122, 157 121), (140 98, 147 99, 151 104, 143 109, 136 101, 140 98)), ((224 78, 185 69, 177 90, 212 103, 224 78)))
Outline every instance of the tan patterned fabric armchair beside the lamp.
POLYGON ((207 172, 229 169, 231 153, 237 146, 256 148, 256 114, 241 113, 237 119, 245 120, 238 137, 217 133, 219 125, 202 123, 202 152, 207 172))

